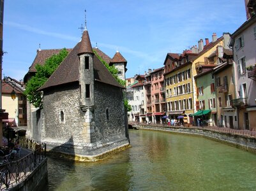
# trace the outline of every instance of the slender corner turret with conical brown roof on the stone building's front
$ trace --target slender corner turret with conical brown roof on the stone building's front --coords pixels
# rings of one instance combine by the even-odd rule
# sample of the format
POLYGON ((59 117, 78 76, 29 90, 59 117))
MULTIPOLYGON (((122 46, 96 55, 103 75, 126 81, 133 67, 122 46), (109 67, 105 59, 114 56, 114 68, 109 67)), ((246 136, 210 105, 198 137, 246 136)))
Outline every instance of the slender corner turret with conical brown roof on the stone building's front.
POLYGON ((84 30, 80 41, 79 52, 79 91, 80 109, 85 112, 85 123, 82 130, 82 138, 86 143, 93 143, 94 139, 94 66, 93 48, 89 33, 84 30))

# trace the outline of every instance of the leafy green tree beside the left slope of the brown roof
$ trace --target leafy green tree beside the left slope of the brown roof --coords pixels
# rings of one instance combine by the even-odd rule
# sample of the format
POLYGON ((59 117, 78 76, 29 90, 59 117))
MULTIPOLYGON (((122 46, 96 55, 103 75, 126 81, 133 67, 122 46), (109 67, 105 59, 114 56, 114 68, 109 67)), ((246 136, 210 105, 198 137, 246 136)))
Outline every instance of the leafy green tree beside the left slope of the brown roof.
POLYGON ((52 55, 52 57, 45 60, 43 66, 36 64, 36 75, 27 82, 24 92, 29 103, 32 103, 36 108, 43 107, 41 92, 38 91, 38 88, 48 80, 67 55, 68 51, 66 48, 63 48, 58 54, 52 55))

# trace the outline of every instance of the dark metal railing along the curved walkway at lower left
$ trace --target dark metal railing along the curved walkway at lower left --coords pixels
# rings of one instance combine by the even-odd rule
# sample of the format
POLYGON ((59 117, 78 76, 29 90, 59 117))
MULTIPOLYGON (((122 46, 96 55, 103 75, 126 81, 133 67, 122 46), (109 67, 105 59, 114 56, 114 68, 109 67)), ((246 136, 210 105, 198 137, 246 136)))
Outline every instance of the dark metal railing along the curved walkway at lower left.
POLYGON ((20 159, 1 160, 3 163, 0 165, 0 190, 7 190, 25 180, 46 159, 45 143, 20 139, 20 145, 31 153, 20 159))

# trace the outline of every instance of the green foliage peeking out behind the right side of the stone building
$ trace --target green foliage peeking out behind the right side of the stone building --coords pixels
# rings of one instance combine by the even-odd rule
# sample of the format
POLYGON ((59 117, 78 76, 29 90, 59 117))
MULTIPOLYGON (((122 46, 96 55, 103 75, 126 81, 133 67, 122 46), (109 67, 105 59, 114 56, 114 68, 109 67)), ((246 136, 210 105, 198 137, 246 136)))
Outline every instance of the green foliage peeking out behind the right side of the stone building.
MULTIPOLYGON (((100 55, 98 55, 98 53, 93 50, 94 55, 96 55, 96 57, 98 57, 98 59, 105 65, 105 67, 107 67, 107 69, 110 71, 110 73, 112 74, 112 76, 114 76, 114 78, 116 79, 116 81, 123 85, 125 87, 125 80, 121 80, 118 77, 118 70, 116 69, 115 66, 109 66, 109 64, 107 64, 107 62, 105 62, 105 60, 102 59, 102 57, 100 57, 100 55)), ((126 108, 127 111, 132 111, 132 106, 130 104, 128 104, 128 99, 126 98, 126 94, 123 94, 124 97, 124 107, 126 108)))

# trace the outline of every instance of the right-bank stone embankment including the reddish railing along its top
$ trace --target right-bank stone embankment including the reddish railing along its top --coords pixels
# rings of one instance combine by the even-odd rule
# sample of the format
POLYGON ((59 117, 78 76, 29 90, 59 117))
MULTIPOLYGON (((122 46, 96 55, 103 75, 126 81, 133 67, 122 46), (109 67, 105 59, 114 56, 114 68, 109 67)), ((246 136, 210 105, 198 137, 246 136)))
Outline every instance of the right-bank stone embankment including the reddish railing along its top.
POLYGON ((167 125, 136 124, 139 129, 176 132, 204 136, 215 141, 236 146, 248 152, 256 153, 256 132, 229 129, 225 127, 183 127, 167 125))

